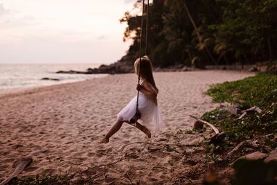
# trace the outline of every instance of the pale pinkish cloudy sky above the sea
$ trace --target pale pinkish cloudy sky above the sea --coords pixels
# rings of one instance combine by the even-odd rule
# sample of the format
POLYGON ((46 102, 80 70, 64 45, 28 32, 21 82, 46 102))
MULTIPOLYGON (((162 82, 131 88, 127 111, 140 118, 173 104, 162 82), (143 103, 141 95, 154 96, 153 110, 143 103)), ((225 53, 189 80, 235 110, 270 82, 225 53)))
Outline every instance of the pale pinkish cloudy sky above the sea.
POLYGON ((119 19, 136 0, 0 0, 0 64, 102 63, 119 60, 119 19))

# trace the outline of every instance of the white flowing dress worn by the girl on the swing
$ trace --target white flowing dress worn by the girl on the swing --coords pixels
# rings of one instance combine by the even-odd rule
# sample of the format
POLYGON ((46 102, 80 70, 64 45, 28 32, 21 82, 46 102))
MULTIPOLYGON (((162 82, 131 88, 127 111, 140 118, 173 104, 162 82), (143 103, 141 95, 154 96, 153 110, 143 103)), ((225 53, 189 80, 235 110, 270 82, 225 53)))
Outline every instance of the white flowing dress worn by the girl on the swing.
MULTIPOLYGON (((141 84, 142 83, 143 81, 141 84)), ((147 127, 152 134, 161 130, 163 127, 163 120, 161 118, 159 106, 154 100, 146 97, 141 91, 139 91, 139 111, 141 112, 139 123, 147 127)), ((117 117, 121 121, 130 121, 134 114, 136 114, 136 96, 117 114, 117 117)))

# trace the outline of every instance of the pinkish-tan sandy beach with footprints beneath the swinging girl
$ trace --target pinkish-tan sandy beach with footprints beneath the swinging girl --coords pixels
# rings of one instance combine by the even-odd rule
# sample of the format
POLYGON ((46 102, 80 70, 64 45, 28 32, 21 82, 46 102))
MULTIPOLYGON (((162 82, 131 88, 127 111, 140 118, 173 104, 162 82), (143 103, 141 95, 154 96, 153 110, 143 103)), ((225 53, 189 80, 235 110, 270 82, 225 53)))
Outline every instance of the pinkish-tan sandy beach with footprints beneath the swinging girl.
POLYGON ((197 183, 199 177, 185 178, 187 171, 204 164, 192 165, 187 159, 204 149, 171 151, 166 144, 201 142, 212 132, 185 131, 193 127, 190 114, 201 116, 218 106, 203 92, 215 83, 253 75, 240 71, 154 73, 166 126, 147 139, 135 127, 123 124, 107 144, 98 141, 116 121, 120 109, 136 96, 134 74, 0 94, 0 182, 12 172, 17 159, 31 157, 32 164, 19 177, 89 169, 87 175, 96 175, 93 180, 99 184, 170 184, 181 177, 184 184, 197 183), (178 131, 181 134, 176 134, 178 131))

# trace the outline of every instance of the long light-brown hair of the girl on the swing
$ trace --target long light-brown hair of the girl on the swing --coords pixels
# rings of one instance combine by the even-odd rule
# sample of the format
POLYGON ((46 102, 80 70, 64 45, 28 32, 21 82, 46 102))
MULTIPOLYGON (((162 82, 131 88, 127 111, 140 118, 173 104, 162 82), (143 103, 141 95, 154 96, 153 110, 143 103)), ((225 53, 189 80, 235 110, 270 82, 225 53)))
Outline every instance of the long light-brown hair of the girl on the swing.
POLYGON ((136 69, 136 74, 139 76, 139 73, 141 73, 141 77, 150 82, 150 84, 158 89, 156 87, 154 77, 153 77, 153 72, 152 72, 152 64, 148 56, 143 56, 141 60, 136 59, 134 62, 134 67, 136 69), (139 69, 140 68, 140 69, 139 69))

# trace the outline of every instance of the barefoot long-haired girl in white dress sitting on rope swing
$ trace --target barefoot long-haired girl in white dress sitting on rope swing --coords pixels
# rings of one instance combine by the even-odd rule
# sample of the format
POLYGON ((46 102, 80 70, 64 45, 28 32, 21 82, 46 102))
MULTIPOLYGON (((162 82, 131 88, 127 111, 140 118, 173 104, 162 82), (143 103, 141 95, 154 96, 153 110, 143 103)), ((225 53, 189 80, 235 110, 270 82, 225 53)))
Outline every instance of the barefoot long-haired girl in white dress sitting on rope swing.
MULTIPOLYGON (((152 64, 148 56, 144 56, 141 60, 137 59, 134 62, 134 69, 137 76, 141 74, 141 83, 137 85, 136 89, 139 91, 139 112, 141 118, 139 122, 134 124, 139 130, 144 132, 148 138, 151 137, 151 132, 157 132, 163 126, 161 119, 161 112, 157 103, 157 95, 159 90, 154 82, 152 73, 152 64), (140 69, 139 69, 140 68, 140 69)), ((109 138, 114 135, 122 124, 130 123, 131 118, 136 114, 136 98, 135 96, 118 114, 116 123, 111 127, 109 132, 105 135, 100 143, 108 143, 109 138)))

